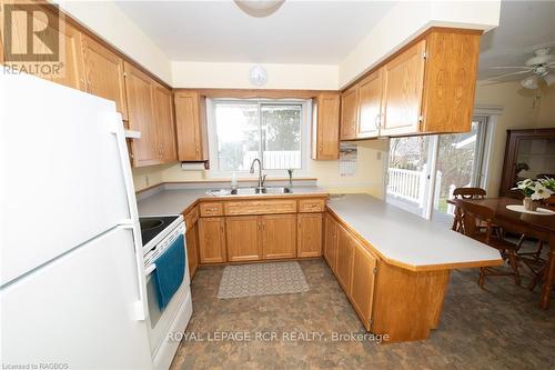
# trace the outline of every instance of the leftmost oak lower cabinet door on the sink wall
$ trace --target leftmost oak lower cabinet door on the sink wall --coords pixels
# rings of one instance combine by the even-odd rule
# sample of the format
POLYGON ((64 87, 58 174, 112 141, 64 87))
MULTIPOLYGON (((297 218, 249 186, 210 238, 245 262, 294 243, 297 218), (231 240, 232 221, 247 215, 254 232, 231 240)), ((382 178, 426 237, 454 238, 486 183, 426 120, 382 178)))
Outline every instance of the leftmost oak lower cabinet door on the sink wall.
POLYGON ((223 217, 199 219, 201 263, 225 262, 225 220, 223 217))

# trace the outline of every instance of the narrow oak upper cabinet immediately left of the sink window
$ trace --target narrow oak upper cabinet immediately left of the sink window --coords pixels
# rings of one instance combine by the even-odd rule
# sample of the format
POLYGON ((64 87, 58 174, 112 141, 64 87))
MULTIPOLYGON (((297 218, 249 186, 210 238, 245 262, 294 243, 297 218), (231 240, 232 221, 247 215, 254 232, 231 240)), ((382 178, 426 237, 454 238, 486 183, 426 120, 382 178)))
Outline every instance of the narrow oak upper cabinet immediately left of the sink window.
POLYGON ((206 161, 209 158, 205 98, 194 91, 178 91, 175 122, 179 160, 206 161))

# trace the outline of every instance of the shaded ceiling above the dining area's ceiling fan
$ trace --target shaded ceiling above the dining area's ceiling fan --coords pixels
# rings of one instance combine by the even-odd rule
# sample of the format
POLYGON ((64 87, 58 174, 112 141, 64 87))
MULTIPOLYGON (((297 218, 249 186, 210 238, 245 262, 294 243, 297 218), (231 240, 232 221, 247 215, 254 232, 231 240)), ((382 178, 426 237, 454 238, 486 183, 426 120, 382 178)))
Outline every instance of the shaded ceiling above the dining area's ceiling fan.
MULTIPOLYGON (((478 79, 517 71, 492 67, 524 66, 534 49, 545 46, 552 46, 555 53, 555 1, 503 1, 500 27, 481 40, 478 79)), ((504 80, 521 80, 525 76, 504 80)))

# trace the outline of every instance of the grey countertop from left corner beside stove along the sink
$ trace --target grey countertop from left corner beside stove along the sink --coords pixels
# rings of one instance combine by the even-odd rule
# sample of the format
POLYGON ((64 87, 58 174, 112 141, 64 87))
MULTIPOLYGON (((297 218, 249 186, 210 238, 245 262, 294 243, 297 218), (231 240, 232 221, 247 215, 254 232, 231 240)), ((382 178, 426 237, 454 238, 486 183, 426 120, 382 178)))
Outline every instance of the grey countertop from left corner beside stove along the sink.
POLYGON ((181 214, 185 209, 194 204, 199 199, 202 200, 232 200, 232 199, 258 199, 265 197, 303 197, 322 196, 326 197, 327 191, 320 187, 293 187, 292 193, 284 194, 252 194, 252 196, 212 196, 208 194, 209 189, 162 189, 149 197, 138 197, 137 206, 140 216, 164 216, 181 214))

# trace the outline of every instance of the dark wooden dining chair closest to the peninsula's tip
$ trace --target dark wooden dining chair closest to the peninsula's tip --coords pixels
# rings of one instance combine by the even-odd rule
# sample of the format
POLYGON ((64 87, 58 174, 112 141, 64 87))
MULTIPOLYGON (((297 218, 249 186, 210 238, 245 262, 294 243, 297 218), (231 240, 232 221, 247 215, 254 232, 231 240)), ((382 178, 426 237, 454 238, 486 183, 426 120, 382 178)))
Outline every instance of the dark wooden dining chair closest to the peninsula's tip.
POLYGON ((497 249, 503 259, 508 261, 513 270, 512 272, 506 272, 491 267, 480 268, 478 286, 484 288, 486 276, 511 276, 514 277, 515 284, 519 286, 521 274, 518 272, 518 258, 516 256, 517 244, 493 234, 494 227, 492 220, 495 214, 494 211, 484 206, 464 202, 461 199, 456 199, 455 203, 461 212, 463 233, 497 249))

